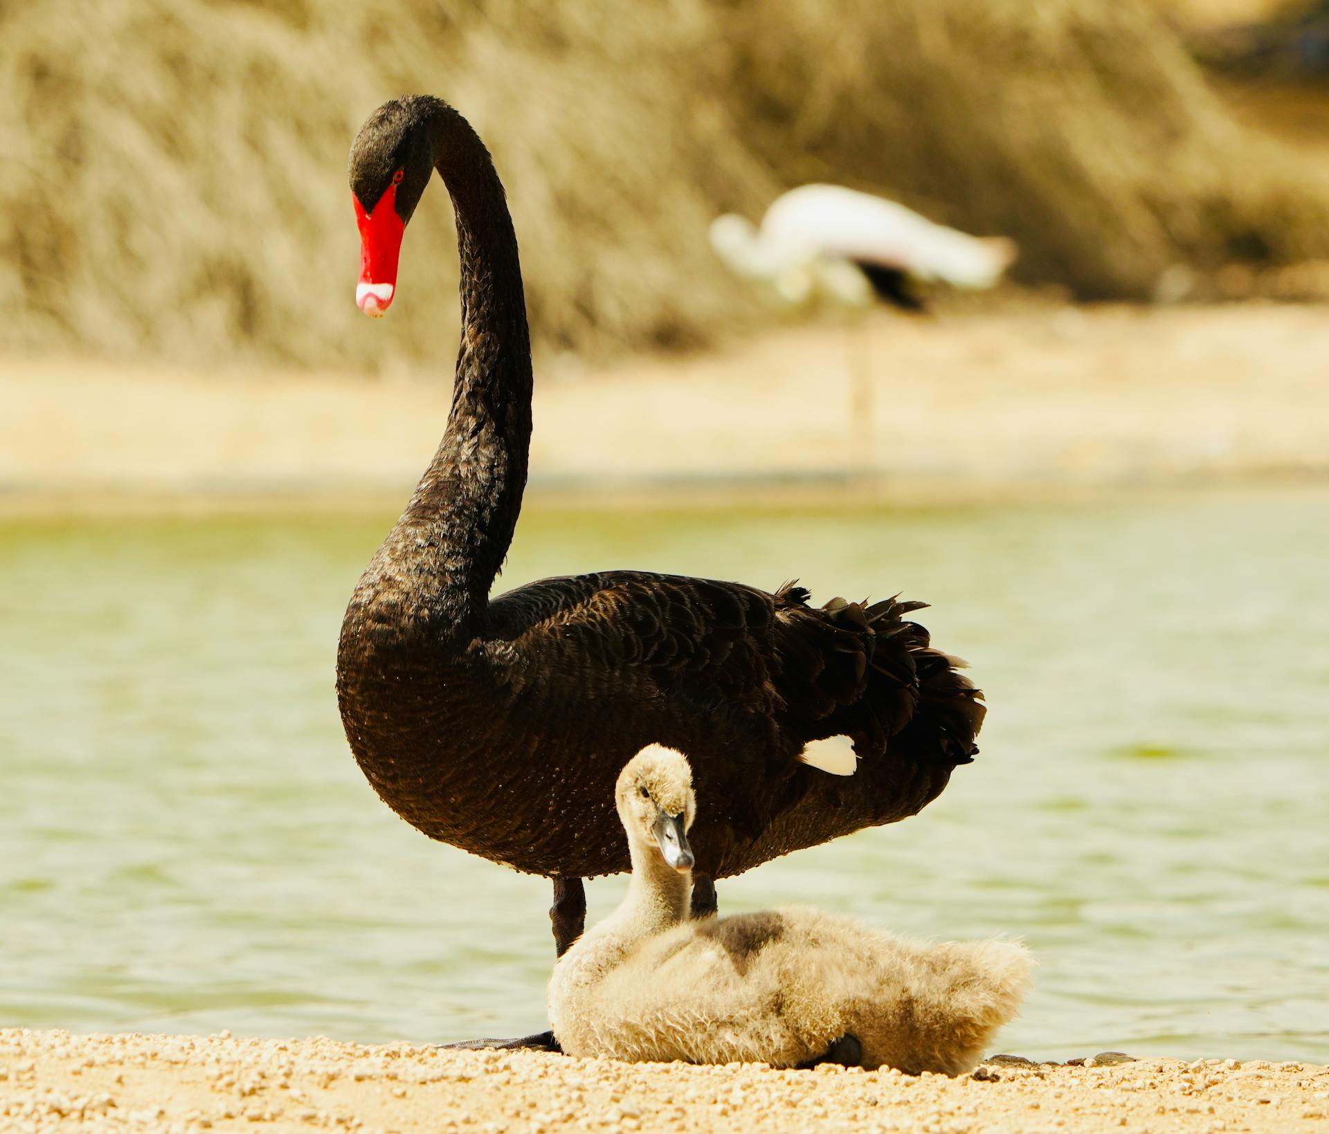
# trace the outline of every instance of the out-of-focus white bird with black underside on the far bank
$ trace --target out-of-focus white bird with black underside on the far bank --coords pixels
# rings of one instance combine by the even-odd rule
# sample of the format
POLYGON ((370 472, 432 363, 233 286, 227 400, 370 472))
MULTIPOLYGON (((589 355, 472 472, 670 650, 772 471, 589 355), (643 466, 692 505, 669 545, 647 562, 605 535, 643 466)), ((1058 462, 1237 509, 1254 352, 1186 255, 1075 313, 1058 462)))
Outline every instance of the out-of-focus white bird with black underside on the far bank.
POLYGON ((843 303, 878 299, 922 308, 912 282, 989 288, 1015 259, 1005 236, 970 236, 893 201, 839 185, 777 197, 762 227, 734 212, 711 223, 711 247, 738 275, 769 280, 789 303, 824 291, 843 303))

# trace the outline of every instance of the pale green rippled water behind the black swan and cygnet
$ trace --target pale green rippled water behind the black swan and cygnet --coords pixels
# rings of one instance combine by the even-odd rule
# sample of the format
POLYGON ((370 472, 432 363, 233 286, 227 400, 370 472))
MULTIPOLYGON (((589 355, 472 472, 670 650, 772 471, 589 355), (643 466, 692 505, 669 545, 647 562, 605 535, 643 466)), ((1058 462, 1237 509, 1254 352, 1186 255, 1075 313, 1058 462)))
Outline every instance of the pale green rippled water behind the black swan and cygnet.
MULTIPOLYGON (((549 886, 361 778, 342 611, 392 517, 0 525, 0 1024, 437 1041, 542 1026, 549 886)), ((978 761, 768 863, 808 902, 1017 933, 1005 1050, 1329 1061, 1329 494, 944 511, 530 507, 502 582, 650 567, 904 591, 978 761)), ((589 886, 591 916, 622 879, 589 886)))

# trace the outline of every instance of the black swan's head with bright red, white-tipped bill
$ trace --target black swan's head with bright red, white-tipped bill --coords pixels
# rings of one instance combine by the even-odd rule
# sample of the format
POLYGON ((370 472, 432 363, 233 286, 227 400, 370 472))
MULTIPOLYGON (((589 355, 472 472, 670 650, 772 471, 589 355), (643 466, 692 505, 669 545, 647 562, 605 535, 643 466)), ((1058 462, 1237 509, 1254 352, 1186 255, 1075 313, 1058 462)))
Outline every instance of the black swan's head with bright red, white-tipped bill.
POLYGON ((437 100, 393 98, 375 110, 351 143, 351 194, 360 226, 360 311, 381 316, 397 289, 401 236, 433 173, 428 120, 437 100))

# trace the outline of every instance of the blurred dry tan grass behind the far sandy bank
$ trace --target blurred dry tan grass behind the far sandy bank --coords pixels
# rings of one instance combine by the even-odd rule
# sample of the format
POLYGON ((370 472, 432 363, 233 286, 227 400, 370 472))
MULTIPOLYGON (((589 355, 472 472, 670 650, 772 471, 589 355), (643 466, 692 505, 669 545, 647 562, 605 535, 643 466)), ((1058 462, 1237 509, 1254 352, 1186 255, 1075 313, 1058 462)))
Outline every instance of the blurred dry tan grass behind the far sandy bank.
POLYGON ((354 368, 451 355, 437 190, 392 319, 351 303, 346 149, 409 90, 453 101, 494 151, 546 349, 694 345, 763 317, 706 224, 809 179, 1009 232, 1025 279, 1090 297, 1147 296, 1174 264, 1329 256, 1329 189, 1237 126, 1142 3, 771 13, 0 5, 0 347, 354 368))

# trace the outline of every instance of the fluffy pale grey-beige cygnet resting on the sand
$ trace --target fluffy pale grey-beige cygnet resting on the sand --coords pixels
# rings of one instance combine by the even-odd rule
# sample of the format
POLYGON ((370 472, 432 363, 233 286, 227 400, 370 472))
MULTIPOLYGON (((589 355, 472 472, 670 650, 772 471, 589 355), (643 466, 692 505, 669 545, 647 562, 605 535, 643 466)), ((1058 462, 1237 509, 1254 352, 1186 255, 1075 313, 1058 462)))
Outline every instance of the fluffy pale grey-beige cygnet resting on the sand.
POLYGON ((799 908, 687 920, 687 761, 643 749, 615 798, 633 879, 550 979, 567 1054, 791 1068, 852 1036, 861 1066, 958 1074, 1014 1016, 1033 961, 1013 941, 914 944, 799 908))

